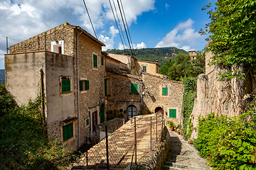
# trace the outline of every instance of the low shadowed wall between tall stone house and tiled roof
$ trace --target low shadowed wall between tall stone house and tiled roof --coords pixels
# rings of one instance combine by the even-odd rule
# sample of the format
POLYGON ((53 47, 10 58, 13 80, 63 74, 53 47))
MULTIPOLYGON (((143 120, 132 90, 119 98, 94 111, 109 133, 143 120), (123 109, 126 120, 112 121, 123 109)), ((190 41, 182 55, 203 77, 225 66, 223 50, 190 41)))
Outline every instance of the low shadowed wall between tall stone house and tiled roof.
POLYGON ((104 137, 105 137, 105 128, 107 125, 107 134, 112 134, 112 132, 118 130, 119 128, 124 125, 124 119, 123 118, 114 118, 112 120, 108 120, 105 123, 100 123, 99 125, 96 126, 96 135, 95 135, 95 143, 100 142, 100 138, 102 136, 100 135, 100 132, 103 132, 104 137))

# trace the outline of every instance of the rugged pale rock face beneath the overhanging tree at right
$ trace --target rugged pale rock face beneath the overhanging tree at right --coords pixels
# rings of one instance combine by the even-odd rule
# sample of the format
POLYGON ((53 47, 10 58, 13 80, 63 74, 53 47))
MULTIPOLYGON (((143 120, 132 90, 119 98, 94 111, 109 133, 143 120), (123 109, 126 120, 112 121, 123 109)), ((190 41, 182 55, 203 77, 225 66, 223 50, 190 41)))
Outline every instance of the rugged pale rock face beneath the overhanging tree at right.
MULTIPOLYGON (((227 72, 221 65, 209 66, 210 57, 206 54, 206 74, 200 74, 197 81, 197 98, 192 112, 193 127, 198 127, 198 118, 206 117, 210 113, 227 115, 233 117, 243 113, 248 102, 255 96, 255 76, 252 67, 242 65, 233 66, 231 70, 240 69, 245 73, 245 79, 232 79, 231 81, 220 81, 219 75, 227 72)), ((196 138, 196 129, 193 130, 191 138, 196 138)))

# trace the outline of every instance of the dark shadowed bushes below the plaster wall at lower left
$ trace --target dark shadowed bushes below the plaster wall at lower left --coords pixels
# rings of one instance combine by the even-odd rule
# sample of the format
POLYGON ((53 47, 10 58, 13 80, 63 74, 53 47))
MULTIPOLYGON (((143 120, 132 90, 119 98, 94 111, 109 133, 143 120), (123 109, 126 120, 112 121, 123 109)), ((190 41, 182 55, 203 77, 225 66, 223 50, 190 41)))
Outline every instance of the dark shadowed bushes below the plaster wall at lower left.
POLYGON ((48 141, 40 105, 37 98, 27 106, 15 107, 13 98, 1 87, 5 109, 0 115, 0 169, 34 169, 44 162, 41 169, 58 169, 55 159, 63 157, 63 147, 48 141))

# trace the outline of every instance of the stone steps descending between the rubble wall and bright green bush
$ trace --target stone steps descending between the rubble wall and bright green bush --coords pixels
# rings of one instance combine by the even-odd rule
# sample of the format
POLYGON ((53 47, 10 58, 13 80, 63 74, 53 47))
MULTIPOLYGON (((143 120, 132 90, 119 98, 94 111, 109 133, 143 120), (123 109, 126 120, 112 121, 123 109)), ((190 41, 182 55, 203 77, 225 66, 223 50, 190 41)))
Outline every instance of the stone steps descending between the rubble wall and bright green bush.
POLYGON ((189 169, 201 170, 209 169, 206 164, 206 159, 203 159, 198 154, 198 151, 189 145, 181 135, 169 130, 171 135, 171 147, 166 162, 162 169, 189 169))

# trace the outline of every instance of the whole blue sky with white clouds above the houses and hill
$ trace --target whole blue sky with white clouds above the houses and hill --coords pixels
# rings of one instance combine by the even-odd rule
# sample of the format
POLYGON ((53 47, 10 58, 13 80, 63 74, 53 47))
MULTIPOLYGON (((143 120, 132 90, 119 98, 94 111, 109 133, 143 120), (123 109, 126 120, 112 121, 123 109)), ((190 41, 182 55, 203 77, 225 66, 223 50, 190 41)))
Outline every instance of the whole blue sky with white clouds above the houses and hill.
MULTIPOLYGON (((109 1, 85 2, 97 37, 107 46, 103 50, 122 49, 109 1)), ((201 11, 208 3, 209 0, 122 0, 134 48, 174 46, 187 51, 203 50, 206 36, 198 31, 210 22, 206 11, 201 11)), ((82 0, 1 0, 0 69, 4 69, 6 36, 9 45, 14 45, 65 21, 94 35, 82 0)))

